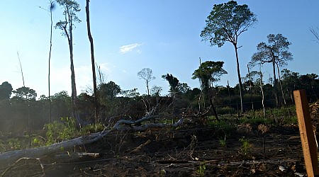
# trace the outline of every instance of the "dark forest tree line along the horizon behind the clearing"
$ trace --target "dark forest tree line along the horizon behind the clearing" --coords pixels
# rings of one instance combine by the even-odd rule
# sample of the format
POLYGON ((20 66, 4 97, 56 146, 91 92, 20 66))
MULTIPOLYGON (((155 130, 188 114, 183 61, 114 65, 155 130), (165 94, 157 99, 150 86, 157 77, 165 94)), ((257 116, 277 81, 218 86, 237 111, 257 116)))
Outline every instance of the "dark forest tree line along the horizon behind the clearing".
MULTIPOLYGON (((155 106, 161 113, 163 120, 171 118, 178 120, 187 113, 200 113, 208 110, 209 100, 205 98, 203 89, 191 89, 186 83, 179 83, 177 77, 172 74, 164 74, 162 78, 167 79, 169 94, 161 96, 161 88, 153 86, 150 96, 140 94, 137 89, 123 91, 121 86, 109 81, 98 85, 99 122, 104 125, 112 124, 119 119, 137 120, 150 112, 155 106)), ((258 72, 251 72, 250 76, 242 78, 244 91, 245 111, 262 108, 262 89, 258 72)), ((317 74, 298 74, 289 69, 281 72, 281 86, 284 95, 279 94, 281 106, 293 104, 293 91, 306 89, 308 101, 318 99, 319 79, 317 74)), ((274 86, 262 81, 264 90, 264 104, 266 108, 277 108, 274 98, 274 86)), ((280 91, 280 88, 276 88, 280 91)), ((213 86, 211 87, 213 104, 216 105, 218 115, 233 114, 237 116, 240 111, 239 86, 213 86)), ((28 130, 28 120, 33 130, 42 130, 49 122, 49 98, 40 96, 28 87, 13 90, 11 84, 5 81, 0 85, 0 129, 1 132, 23 133, 28 130)), ((60 118, 72 117, 72 101, 67 91, 60 91, 51 96, 51 121, 59 121, 60 118)), ((90 91, 83 92, 77 96, 77 111, 85 124, 94 123, 94 96, 90 91)), ((207 114, 214 115, 210 110, 207 114)))

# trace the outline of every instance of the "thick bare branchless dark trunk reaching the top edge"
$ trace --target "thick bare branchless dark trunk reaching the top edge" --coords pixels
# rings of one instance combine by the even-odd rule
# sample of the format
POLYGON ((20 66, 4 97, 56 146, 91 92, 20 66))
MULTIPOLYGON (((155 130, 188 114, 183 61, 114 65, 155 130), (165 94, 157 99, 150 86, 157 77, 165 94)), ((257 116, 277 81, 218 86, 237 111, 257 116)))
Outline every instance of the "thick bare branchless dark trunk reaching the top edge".
POLYGON ((89 36, 90 47, 91 47, 91 64, 92 64, 92 74, 93 74, 93 91, 94 91, 94 118, 95 123, 99 122, 99 108, 97 101, 97 89, 96 89, 96 73, 95 73, 95 62, 94 62, 94 45, 93 38, 91 35, 91 25, 90 25, 90 11, 89 11, 89 0, 86 0, 86 26, 87 26, 87 35, 89 36))

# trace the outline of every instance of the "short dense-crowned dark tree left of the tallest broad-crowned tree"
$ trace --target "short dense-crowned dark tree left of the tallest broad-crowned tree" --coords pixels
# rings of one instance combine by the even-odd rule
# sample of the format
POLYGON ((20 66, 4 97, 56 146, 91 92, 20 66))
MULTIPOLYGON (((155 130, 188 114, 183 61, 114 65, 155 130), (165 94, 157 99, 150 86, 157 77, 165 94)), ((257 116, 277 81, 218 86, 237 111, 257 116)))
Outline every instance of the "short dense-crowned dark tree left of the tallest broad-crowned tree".
POLYGON ((201 89, 206 92, 208 100, 211 103, 211 107, 213 108, 213 113, 218 119, 218 114, 215 106, 213 105, 213 96, 211 89, 213 88, 213 83, 220 80, 220 76, 223 74, 227 74, 227 72, 223 69, 224 62, 212 62, 207 61, 201 63, 198 69, 196 69, 193 73, 193 77, 191 79, 199 79, 201 82, 201 89))

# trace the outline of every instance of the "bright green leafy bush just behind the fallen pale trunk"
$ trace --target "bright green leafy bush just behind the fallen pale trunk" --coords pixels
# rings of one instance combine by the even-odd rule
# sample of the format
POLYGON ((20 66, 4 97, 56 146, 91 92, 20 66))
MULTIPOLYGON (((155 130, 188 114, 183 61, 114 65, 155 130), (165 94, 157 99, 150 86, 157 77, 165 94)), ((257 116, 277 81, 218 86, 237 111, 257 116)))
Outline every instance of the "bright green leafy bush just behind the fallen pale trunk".
POLYGON ((54 121, 46 124, 47 145, 72 139, 79 135, 74 118, 61 118, 61 121, 54 121))

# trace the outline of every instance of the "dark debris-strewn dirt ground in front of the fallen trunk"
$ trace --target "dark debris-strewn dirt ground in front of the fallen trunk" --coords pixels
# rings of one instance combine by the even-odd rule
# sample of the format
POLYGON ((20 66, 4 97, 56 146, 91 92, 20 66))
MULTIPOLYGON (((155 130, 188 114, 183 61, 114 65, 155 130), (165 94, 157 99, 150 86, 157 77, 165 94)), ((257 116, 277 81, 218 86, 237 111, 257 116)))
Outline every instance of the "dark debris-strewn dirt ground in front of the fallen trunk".
POLYGON ((223 138, 213 127, 121 131, 81 149, 96 154, 23 161, 4 176, 306 176, 296 125, 264 135, 258 125, 240 125, 223 138))

